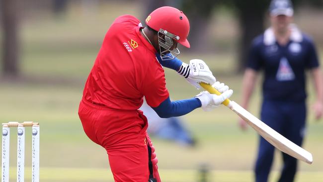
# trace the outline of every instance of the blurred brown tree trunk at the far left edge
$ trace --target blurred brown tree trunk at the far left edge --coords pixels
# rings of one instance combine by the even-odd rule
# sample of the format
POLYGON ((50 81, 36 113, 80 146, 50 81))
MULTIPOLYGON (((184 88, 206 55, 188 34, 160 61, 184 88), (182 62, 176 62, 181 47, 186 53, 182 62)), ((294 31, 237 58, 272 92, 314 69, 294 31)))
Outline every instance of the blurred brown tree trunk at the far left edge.
POLYGON ((17 77, 19 74, 18 0, 1 0, 2 17, 2 74, 17 77))

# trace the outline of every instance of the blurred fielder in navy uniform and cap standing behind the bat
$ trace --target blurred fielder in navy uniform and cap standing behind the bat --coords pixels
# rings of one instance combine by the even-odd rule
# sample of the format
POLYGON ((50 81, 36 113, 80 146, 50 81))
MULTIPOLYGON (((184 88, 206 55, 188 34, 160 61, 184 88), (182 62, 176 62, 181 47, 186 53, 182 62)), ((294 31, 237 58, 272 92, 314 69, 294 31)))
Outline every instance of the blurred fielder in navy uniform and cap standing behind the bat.
MULTIPOLYGON (((323 80, 312 39, 302 33, 293 20, 290 0, 272 0, 271 27, 256 37, 251 46, 242 83, 242 106, 248 107, 258 72, 263 71, 261 120, 301 146, 306 128, 306 71, 311 72, 317 93, 313 105, 316 119, 323 113, 323 80)), ((240 120, 242 129, 246 123, 240 120)), ((293 182, 297 160, 283 155, 279 182, 293 182)), ((267 182, 274 146, 260 137, 255 164, 255 181, 267 182)))

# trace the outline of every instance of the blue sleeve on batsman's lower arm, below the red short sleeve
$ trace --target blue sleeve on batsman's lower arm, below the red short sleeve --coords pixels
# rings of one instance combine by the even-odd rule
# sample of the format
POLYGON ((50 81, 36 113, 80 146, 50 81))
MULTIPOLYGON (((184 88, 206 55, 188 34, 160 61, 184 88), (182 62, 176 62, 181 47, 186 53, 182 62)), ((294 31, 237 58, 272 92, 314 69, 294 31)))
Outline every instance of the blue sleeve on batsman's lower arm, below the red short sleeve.
POLYGON ((192 110, 201 107, 198 98, 170 101, 167 97, 158 107, 152 107, 161 118, 185 115, 192 110))

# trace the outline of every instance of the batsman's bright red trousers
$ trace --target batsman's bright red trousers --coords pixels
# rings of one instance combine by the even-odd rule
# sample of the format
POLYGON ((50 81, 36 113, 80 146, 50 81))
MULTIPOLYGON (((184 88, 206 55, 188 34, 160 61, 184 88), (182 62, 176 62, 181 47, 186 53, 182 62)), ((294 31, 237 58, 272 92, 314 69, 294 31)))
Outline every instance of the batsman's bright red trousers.
POLYGON ((81 100, 79 116, 88 138, 105 148, 115 182, 148 182, 150 176, 161 182, 142 111, 113 110, 81 100), (148 146, 152 149, 153 175, 148 146))

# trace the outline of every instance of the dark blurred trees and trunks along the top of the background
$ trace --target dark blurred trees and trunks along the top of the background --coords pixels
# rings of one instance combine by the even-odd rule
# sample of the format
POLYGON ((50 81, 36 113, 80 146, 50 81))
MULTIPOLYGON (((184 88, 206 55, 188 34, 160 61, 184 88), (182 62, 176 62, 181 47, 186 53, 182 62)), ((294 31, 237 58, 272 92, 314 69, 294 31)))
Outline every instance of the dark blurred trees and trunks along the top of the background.
MULTIPOLYGON (((1 74, 3 77, 15 78, 20 74, 20 38, 19 38, 19 18, 21 2, 23 0, 0 0, 0 17, 2 27, 2 57, 1 74)), ((102 0, 103 1, 103 0, 102 0)), ((317 8, 322 8, 323 0, 292 0, 294 7, 298 8, 304 4, 317 8)), ((44 2, 34 0, 31 5, 44 2)), ((49 0, 54 13, 65 11, 68 3, 75 3, 74 0, 49 0)), ((216 6, 224 5, 233 9, 239 21, 241 36, 238 44, 238 67, 237 72, 244 69, 247 57, 247 50, 252 39, 263 32, 264 18, 268 10, 270 0, 139 0, 146 6, 146 11, 163 6, 171 5, 182 9, 190 17, 190 43, 196 45, 193 51, 203 49, 203 42, 208 37, 205 33, 213 9, 216 6)), ((145 14, 147 14, 145 13, 145 14)))

